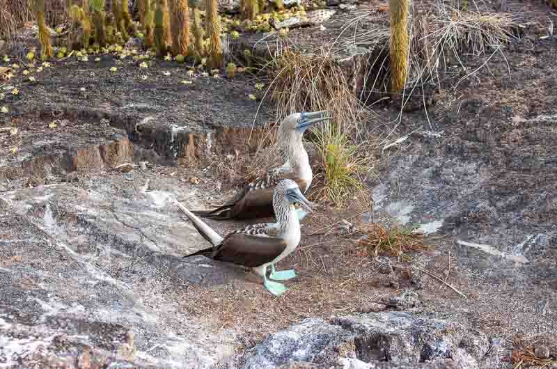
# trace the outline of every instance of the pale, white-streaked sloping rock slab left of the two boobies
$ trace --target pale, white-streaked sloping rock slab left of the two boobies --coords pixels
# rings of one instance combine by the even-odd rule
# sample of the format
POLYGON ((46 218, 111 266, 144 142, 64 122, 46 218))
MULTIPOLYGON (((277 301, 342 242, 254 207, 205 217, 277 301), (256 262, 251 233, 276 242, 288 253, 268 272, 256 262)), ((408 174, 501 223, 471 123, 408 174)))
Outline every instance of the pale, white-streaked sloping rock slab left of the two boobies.
POLYGON ((193 193, 137 171, 3 192, 0 342, 14 345, 0 345, 0 357, 31 365, 38 345, 45 356, 61 354, 59 335, 68 336, 68 354, 88 345, 113 356, 131 329, 139 363, 213 366, 226 336, 189 320, 178 306, 182 286, 218 288, 245 272, 180 258, 206 246, 170 203, 193 193))

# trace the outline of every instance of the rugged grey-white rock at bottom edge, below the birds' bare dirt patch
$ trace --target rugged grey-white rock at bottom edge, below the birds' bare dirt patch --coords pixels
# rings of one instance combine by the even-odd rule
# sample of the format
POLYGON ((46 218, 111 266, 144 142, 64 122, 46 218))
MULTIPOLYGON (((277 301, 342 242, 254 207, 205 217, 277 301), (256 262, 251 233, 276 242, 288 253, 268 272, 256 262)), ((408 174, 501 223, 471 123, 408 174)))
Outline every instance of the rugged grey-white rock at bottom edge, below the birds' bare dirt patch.
POLYGON ((484 368, 490 355, 496 355, 493 348, 489 337, 470 331, 461 322, 384 311, 336 317, 329 322, 306 319, 248 350, 243 368, 290 368, 288 365, 296 361, 329 368, 347 354, 372 364, 363 368, 410 368, 431 361, 442 364, 430 363, 423 368, 484 368), (450 359, 448 363, 446 359, 450 359))

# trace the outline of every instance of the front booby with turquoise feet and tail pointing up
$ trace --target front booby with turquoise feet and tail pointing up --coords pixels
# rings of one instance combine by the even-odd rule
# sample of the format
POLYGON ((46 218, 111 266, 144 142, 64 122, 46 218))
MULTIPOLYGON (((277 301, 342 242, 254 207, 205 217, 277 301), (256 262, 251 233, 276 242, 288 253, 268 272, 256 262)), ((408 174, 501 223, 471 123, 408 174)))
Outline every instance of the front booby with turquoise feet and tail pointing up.
POLYGON ((293 204, 299 203, 311 212, 311 203, 301 194, 297 183, 288 179, 278 182, 273 192, 272 203, 276 223, 253 224, 221 237, 195 214, 176 202, 203 238, 213 245, 184 258, 205 256, 212 260, 252 268, 262 276, 263 285, 269 292, 275 296, 281 295, 287 288, 282 283, 267 279, 267 267, 271 266, 271 279, 285 281, 296 276, 293 269, 276 271, 274 265, 292 253, 300 242, 300 223, 293 204))

